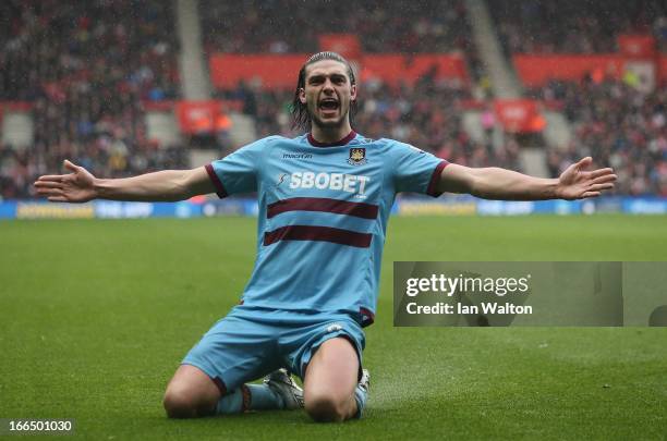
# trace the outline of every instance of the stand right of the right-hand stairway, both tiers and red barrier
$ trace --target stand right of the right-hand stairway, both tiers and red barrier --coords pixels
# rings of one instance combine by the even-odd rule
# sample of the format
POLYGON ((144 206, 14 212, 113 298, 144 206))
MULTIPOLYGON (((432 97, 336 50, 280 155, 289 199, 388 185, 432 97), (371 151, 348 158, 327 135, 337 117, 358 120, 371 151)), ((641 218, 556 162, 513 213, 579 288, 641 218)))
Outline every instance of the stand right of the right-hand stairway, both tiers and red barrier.
MULTIPOLYGON (((615 168, 619 176, 616 194, 667 196, 667 85, 658 77, 653 90, 645 89, 641 75, 623 74, 619 38, 622 35, 653 38, 658 54, 644 54, 646 59, 667 51, 665 3, 653 0, 487 3, 500 42, 508 57, 514 58, 524 79, 530 74, 524 68, 531 60, 522 63, 518 54, 555 56, 555 62, 561 64, 570 60, 584 64, 589 60, 582 57, 591 56, 591 68, 584 68, 579 78, 571 74, 572 63, 570 78, 554 77, 542 86, 529 85, 532 98, 562 109, 573 128, 572 140, 565 149, 547 149, 550 174, 590 155, 597 164, 615 168)), ((656 64, 659 71, 659 63, 656 64)))

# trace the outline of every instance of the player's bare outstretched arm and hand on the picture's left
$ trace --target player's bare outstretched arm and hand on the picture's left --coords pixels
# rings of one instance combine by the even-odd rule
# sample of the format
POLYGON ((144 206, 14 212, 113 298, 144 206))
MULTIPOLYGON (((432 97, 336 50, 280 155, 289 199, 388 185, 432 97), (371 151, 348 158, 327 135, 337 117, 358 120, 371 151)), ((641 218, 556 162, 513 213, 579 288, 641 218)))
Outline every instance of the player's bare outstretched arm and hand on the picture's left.
POLYGON ((68 160, 64 167, 72 173, 40 176, 35 182, 39 196, 54 203, 85 203, 90 199, 173 201, 216 191, 203 167, 116 180, 97 179, 68 160))

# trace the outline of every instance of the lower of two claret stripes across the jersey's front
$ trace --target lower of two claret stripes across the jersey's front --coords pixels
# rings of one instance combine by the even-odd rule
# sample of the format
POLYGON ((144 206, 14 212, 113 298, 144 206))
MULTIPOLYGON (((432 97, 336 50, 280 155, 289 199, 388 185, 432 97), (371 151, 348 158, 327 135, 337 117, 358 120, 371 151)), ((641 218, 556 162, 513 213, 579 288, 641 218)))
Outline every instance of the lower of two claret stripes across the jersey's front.
POLYGON ((280 241, 318 241, 368 248, 372 238, 372 234, 331 226, 288 225, 264 233, 264 245, 268 246, 280 241))

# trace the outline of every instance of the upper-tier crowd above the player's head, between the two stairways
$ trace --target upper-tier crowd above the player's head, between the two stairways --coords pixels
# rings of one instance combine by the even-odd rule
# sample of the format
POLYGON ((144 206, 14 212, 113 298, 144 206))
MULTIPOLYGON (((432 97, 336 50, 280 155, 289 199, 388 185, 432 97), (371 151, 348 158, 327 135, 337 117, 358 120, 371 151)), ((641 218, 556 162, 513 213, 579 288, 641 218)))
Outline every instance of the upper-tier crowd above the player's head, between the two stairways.
POLYGON ((366 52, 451 52, 470 46, 462 0, 202 0, 208 52, 313 53, 318 35, 359 36, 366 52), (314 23, 316 21, 316 23, 314 23))

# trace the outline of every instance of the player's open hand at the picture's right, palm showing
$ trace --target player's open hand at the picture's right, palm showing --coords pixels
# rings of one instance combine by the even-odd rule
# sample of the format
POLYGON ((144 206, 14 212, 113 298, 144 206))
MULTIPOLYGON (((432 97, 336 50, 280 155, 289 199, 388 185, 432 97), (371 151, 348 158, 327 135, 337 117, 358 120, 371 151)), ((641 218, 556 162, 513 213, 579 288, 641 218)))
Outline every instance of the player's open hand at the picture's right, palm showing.
POLYGON ((562 199, 583 199, 599 196, 603 191, 614 188, 616 174, 613 169, 585 171, 591 166, 591 157, 583 158, 568 167, 558 179, 558 196, 562 199))

